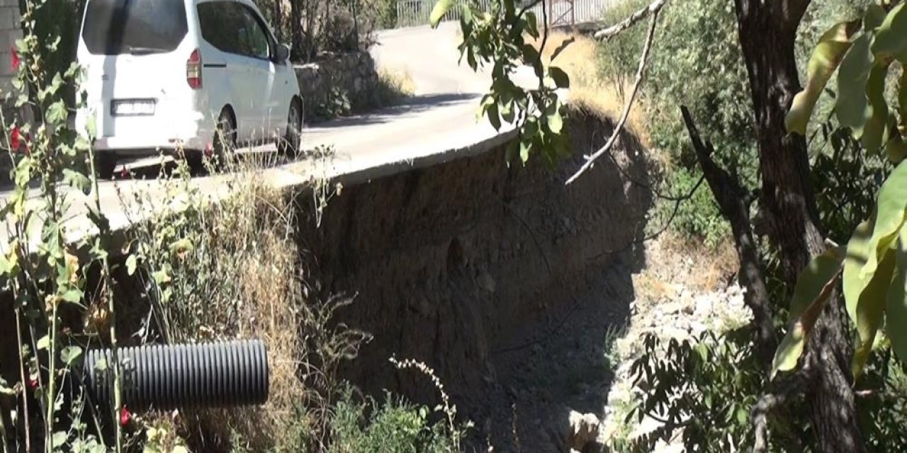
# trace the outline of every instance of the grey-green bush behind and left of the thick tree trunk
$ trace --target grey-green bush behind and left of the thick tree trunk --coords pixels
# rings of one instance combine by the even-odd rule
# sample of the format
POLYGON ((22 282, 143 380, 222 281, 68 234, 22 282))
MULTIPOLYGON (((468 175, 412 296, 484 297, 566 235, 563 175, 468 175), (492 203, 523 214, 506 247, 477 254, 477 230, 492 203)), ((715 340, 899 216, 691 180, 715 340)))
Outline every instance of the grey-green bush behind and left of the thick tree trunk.
MULTIPOLYGON (((605 23, 615 24, 648 3, 623 3, 605 15, 605 23)), ((671 161, 661 191, 673 196, 686 195, 698 180, 680 105, 688 106, 703 136, 714 143, 717 161, 736 168, 745 186, 756 183, 756 138, 733 8, 731 2, 690 0, 669 4, 661 15, 643 104, 651 144, 671 161)), ((602 77, 618 87, 633 81, 645 33, 645 26, 637 26, 602 44, 602 77)), ((654 217, 662 222, 652 226, 660 228, 668 221, 674 205, 660 200, 654 217)), ((705 184, 681 203, 670 229, 712 246, 730 231, 705 184)))

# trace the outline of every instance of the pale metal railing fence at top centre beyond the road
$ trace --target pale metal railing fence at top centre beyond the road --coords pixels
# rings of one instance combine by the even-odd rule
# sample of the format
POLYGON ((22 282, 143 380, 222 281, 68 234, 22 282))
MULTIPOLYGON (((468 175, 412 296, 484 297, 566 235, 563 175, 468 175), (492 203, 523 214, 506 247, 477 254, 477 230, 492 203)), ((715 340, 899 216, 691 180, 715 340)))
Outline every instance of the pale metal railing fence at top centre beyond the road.
MULTIPOLYGON (((414 26, 429 23, 429 16, 432 14, 432 8, 436 0, 399 0, 396 4, 396 26, 414 26)), ((614 5, 619 0, 544 0, 548 7, 548 26, 575 25, 590 22, 596 22, 601 19, 605 8, 614 5)), ((444 21, 455 21, 460 19, 461 8, 468 4, 467 1, 457 2, 447 14, 444 14, 444 21)), ((490 11, 492 0, 478 0, 479 7, 483 11, 490 11)), ((524 2, 529 3, 529 2, 524 2)), ((539 18, 540 26, 542 18, 542 4, 533 6, 530 11, 534 12, 539 18)))

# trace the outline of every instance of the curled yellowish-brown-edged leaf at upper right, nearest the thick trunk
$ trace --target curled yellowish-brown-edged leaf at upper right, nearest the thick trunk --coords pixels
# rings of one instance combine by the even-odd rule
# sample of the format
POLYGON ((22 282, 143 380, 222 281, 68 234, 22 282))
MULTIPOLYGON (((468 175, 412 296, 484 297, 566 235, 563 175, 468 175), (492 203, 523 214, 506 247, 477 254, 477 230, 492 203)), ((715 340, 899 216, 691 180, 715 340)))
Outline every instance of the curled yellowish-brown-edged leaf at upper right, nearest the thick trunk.
POLYGON ((850 49, 851 39, 859 26, 860 21, 835 24, 819 38, 807 66, 805 88, 796 94, 785 117, 787 131, 805 135, 815 102, 844 58, 844 53, 850 49))

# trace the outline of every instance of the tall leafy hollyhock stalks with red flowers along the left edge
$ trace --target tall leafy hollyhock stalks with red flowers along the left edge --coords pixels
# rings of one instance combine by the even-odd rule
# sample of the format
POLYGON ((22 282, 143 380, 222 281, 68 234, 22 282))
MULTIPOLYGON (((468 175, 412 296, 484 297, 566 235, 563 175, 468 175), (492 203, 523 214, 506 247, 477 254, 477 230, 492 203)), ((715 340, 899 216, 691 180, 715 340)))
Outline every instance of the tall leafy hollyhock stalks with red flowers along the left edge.
MULTIPOLYGON (((77 86, 81 70, 75 63, 64 72, 44 71, 45 53, 62 52, 62 39, 50 42, 35 34, 34 16, 44 3, 24 2, 24 37, 15 43, 13 69, 15 99, 20 112, 3 118, 5 142, 14 162, 11 195, 0 213, 6 220, 9 244, 0 256, 5 291, 13 294, 20 382, 3 391, 17 395, 20 407, 11 414, 23 427, 12 437, 26 450, 122 450, 122 430, 113 423, 112 446, 105 446, 98 423, 89 429, 83 421, 115 419, 121 406, 119 367, 114 371, 112 406, 93 413, 93 403, 79 385, 83 349, 93 338, 67 323, 72 313, 83 314, 90 270, 100 271, 94 304, 102 304, 108 339, 116 360, 116 320, 111 268, 109 222, 100 209, 93 127, 79 133, 68 126, 70 111, 63 92, 77 86), (35 197, 36 196, 36 197, 35 197), (79 231, 71 222, 77 204, 88 209, 90 225, 79 231), (79 237, 81 234, 88 233, 79 237), (40 416, 31 417, 37 404, 40 416), (106 413, 104 413, 106 412, 106 413)), ((7 433, 7 436, 10 436, 7 433)))

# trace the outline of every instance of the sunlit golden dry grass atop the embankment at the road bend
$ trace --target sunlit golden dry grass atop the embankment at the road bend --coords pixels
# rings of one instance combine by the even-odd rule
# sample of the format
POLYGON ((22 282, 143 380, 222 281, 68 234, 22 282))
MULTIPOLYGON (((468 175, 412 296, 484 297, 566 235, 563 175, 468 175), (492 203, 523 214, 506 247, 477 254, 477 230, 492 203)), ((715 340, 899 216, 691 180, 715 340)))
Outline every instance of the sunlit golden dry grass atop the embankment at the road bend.
MULTIPOLYGON (((571 89, 568 102, 580 105, 590 111, 597 111, 610 118, 618 118, 624 108, 624 99, 620 95, 619 87, 614 83, 605 81, 600 77, 598 69, 598 43, 581 34, 566 34, 551 32, 548 41, 541 52, 543 62, 551 63, 551 54, 561 44, 573 38, 575 41, 568 45, 555 60, 555 65, 570 75, 571 89)), ((532 44, 536 50, 541 47, 541 38, 532 39, 526 36, 527 43, 532 44)), ((629 92, 632 85, 623 87, 623 92, 629 92)), ((646 127, 641 103, 637 103, 630 111, 628 125, 643 145, 649 147, 649 130, 646 127)))

